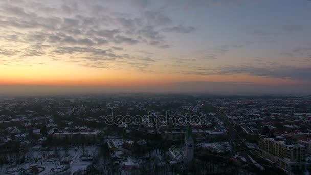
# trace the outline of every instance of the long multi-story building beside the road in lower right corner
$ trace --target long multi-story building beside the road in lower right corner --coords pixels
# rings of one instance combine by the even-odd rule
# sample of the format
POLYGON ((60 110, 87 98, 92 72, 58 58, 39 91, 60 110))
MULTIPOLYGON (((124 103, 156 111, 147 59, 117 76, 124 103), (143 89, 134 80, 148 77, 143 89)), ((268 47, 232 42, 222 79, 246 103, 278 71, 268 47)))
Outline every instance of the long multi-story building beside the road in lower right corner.
POLYGON ((279 167, 298 172, 306 169, 306 147, 274 138, 261 138, 258 142, 259 155, 275 162, 279 167))

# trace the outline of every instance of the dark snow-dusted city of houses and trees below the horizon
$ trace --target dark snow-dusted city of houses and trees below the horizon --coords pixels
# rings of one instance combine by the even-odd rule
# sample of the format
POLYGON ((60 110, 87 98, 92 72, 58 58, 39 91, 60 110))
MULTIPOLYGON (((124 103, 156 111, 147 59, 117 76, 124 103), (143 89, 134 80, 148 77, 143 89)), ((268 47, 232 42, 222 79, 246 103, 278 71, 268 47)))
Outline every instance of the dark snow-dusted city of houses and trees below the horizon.
POLYGON ((2 174, 301 174, 311 168, 310 96, 0 100, 2 174), (108 123, 112 112, 115 119, 139 114, 143 122, 128 117, 108 123), (158 120, 168 112, 171 121, 188 114, 204 116, 204 122, 158 120))

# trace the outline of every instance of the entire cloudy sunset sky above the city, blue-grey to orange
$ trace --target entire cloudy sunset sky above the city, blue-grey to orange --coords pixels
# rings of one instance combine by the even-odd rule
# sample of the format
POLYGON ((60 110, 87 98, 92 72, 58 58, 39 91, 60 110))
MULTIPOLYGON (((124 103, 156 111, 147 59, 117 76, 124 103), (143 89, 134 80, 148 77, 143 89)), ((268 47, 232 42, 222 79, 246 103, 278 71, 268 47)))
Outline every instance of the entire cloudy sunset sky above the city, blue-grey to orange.
POLYGON ((2 0, 0 90, 311 93, 310 16, 308 0, 2 0))

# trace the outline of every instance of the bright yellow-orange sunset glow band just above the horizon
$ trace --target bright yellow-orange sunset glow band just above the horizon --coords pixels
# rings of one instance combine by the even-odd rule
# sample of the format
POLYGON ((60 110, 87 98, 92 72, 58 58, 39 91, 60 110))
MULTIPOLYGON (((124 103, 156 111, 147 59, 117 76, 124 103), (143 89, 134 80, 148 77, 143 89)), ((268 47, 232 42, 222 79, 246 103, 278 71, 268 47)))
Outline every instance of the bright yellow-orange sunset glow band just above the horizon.
POLYGON ((169 86, 176 82, 249 82, 259 85, 302 84, 303 81, 238 75, 194 75, 163 72, 141 72, 130 68, 92 69, 71 64, 36 65, 34 67, 0 67, 0 85, 51 86, 169 86), (56 69, 57 68, 57 69, 56 69))

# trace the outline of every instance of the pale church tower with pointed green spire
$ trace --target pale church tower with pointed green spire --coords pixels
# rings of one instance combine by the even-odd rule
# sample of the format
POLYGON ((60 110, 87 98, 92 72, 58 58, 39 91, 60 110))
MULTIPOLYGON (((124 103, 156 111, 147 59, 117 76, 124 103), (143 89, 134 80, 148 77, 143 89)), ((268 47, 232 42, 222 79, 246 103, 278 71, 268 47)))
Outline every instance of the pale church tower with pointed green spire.
POLYGON ((187 127, 187 132, 185 135, 185 157, 188 162, 191 162, 194 155, 194 144, 193 144, 193 138, 192 138, 192 128, 190 125, 187 127))

